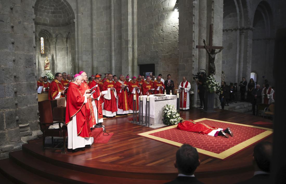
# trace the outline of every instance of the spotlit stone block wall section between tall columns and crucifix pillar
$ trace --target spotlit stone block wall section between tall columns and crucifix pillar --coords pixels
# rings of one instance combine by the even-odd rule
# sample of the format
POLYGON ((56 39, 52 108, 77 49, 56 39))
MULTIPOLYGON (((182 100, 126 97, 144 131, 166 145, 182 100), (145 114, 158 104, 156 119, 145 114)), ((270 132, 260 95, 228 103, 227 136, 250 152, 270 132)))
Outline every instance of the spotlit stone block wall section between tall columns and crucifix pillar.
POLYGON ((175 86, 178 78, 178 12, 176 0, 138 1, 138 65, 155 64, 155 75, 166 80, 171 74, 175 86))

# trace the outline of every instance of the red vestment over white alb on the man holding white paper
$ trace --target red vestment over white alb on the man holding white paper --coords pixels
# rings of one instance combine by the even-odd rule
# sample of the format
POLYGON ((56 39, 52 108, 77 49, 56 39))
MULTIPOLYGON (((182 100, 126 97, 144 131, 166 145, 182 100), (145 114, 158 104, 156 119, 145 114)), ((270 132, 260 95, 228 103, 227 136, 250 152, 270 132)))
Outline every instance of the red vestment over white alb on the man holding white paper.
MULTIPOLYGON (((115 87, 114 81, 106 80, 103 83, 103 90, 106 91, 108 88, 115 87)), ((106 94, 104 95, 104 107, 103 107, 103 115, 112 117, 116 116, 117 106, 116 106, 116 97, 114 95, 114 91, 110 90, 110 100, 106 99, 106 94)))

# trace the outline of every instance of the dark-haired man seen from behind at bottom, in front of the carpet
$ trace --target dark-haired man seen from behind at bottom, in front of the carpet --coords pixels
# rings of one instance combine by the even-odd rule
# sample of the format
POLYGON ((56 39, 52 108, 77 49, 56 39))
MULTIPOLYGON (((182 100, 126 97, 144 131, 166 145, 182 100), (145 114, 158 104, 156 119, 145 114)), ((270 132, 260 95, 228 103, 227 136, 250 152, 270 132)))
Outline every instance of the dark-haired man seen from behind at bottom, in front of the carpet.
POLYGON ((200 165, 198 151, 189 144, 183 144, 176 153, 175 167, 178 169, 178 177, 168 184, 173 183, 202 183, 196 179, 194 172, 200 165))

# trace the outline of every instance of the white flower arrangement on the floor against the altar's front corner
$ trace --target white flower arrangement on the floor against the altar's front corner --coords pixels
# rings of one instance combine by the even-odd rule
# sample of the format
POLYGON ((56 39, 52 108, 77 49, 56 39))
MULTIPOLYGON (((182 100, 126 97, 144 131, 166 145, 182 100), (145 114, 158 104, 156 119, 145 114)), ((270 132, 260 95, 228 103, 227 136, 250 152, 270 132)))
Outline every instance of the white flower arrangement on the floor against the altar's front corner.
POLYGON ((176 108, 173 105, 168 104, 164 107, 163 118, 163 123, 165 125, 177 125, 180 120, 182 120, 176 108))

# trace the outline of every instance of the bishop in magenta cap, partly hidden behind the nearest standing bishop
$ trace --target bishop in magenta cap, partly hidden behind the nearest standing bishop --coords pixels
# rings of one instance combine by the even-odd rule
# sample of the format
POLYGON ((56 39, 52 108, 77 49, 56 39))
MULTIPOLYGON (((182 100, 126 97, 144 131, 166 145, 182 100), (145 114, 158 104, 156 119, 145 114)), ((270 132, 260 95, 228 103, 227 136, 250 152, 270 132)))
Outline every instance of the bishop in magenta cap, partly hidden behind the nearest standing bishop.
MULTIPOLYGON (((88 76, 86 72, 80 71, 78 74, 82 76, 82 83, 80 84, 80 88, 79 88, 80 92, 82 93, 82 95, 86 93, 90 93, 90 88, 86 82, 88 80, 88 76)), ((86 113, 89 114, 90 116, 90 119, 88 119, 88 123, 90 125, 90 128, 92 128, 96 124, 96 121, 95 121, 95 115, 94 115, 91 98, 88 98, 88 102, 86 103, 86 113)))

